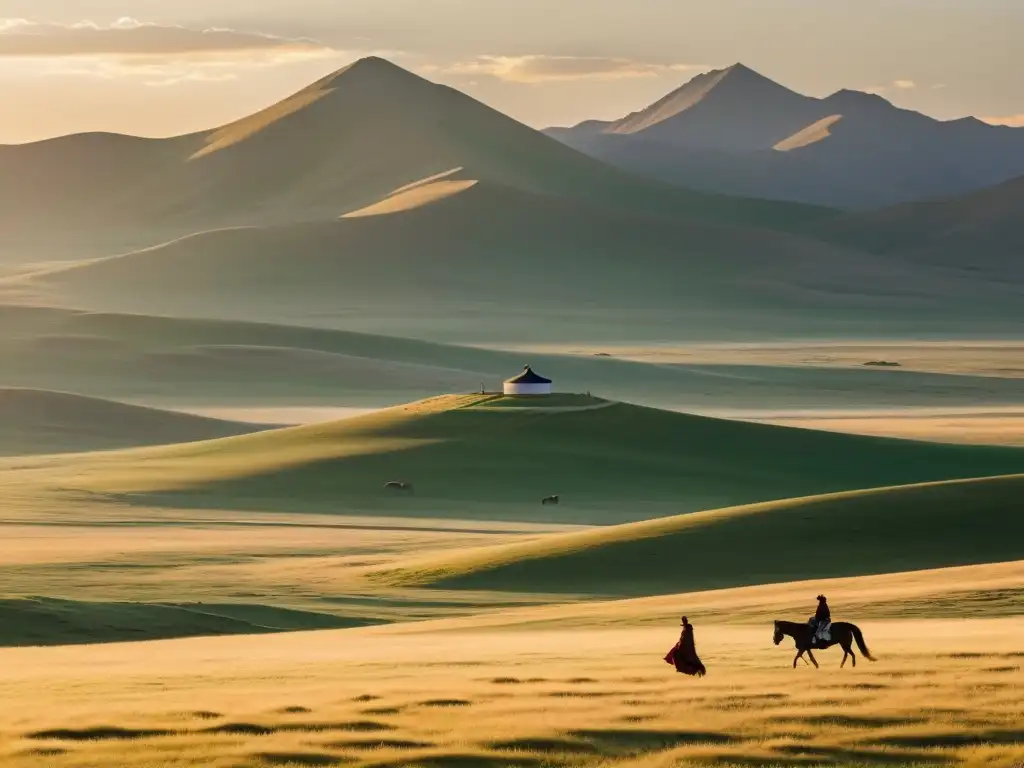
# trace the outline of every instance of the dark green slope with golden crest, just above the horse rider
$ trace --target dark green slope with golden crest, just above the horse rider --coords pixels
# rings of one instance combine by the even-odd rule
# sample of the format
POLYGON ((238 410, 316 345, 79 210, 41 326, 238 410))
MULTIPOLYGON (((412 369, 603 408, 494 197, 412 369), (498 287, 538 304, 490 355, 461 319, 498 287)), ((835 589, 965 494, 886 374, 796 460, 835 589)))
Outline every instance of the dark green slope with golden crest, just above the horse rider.
POLYGON ((792 499, 445 553, 392 586, 669 594, 1024 556, 1024 475, 792 499))

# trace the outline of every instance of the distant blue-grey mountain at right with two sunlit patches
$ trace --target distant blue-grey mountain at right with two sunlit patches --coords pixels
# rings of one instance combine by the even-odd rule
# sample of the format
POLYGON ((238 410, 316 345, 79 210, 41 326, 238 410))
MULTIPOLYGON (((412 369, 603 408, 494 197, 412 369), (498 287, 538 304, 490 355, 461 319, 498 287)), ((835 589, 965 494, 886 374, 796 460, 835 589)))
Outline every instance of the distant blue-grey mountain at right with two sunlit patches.
POLYGON ((796 93, 742 65, 613 122, 547 133, 620 168, 727 195, 869 209, 1024 174, 1024 130, 938 121, 881 96, 796 93))

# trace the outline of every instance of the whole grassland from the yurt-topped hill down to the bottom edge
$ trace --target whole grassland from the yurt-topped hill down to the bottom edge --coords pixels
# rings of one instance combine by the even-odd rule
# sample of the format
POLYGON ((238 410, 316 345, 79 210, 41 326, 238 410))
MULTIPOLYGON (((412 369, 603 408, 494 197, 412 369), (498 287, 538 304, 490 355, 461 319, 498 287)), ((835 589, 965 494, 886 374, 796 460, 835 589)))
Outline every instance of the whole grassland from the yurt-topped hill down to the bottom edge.
POLYGON ((983 476, 1024 466, 1017 452, 545 404, 449 396, 3 460, 0 765, 1024 759, 1024 476, 983 476), (624 452, 640 481, 592 476, 624 452), (769 472, 773 454, 831 464, 769 472), (678 514, 717 477, 814 489, 842 457, 870 474, 828 482, 858 488, 982 476, 678 514), (415 496, 382 490, 407 475, 415 496), (538 478, 582 492, 556 516, 538 478), (821 669, 794 670, 792 642, 772 645, 772 621, 805 620, 821 591, 877 662, 820 651, 821 669), (703 679, 663 662, 684 612, 703 679))

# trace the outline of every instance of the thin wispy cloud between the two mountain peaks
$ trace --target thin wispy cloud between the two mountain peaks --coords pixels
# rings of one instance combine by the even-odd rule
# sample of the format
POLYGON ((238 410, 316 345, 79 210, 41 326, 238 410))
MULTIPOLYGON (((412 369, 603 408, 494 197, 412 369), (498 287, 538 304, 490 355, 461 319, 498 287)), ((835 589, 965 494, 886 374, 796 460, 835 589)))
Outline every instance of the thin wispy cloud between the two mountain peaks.
POLYGON ((580 80, 627 80, 708 69, 697 65, 654 63, 601 56, 478 56, 425 72, 466 77, 493 77, 510 83, 552 83, 580 80))

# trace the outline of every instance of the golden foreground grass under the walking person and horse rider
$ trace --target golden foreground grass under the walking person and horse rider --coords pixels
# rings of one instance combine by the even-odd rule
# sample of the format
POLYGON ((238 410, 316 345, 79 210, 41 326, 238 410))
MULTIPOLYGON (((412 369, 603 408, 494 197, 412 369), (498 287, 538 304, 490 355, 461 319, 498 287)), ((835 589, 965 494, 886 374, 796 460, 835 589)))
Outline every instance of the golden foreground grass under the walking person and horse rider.
MULTIPOLYGON (((857 594, 849 582, 844 597, 857 594)), ((499 622, 4 650, 0 755, 12 768, 1024 759, 1019 617, 861 621, 878 663, 840 671, 822 652, 821 670, 794 671, 770 623, 709 622, 694 599, 671 607, 696 623, 701 680, 662 662, 676 622, 644 626, 633 602, 588 606, 587 621, 549 607, 499 622)))

